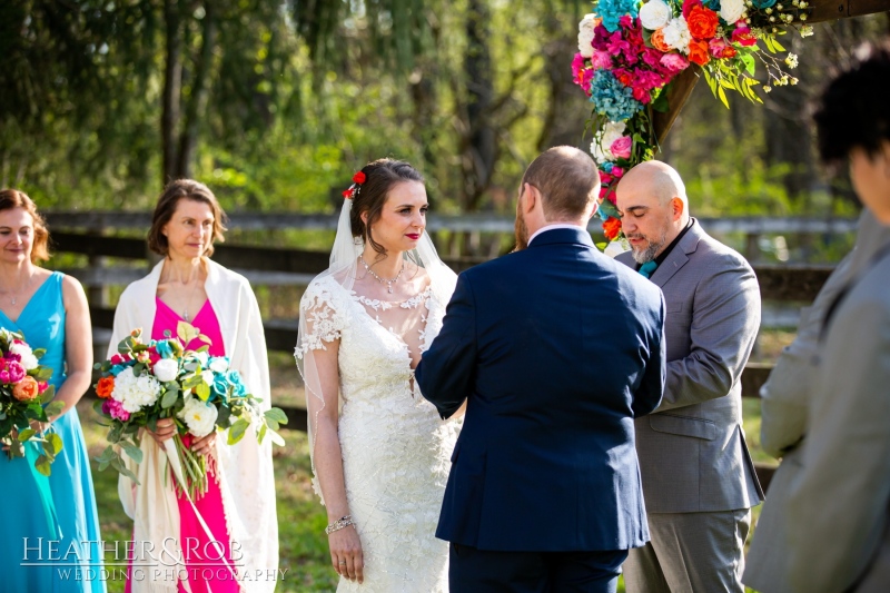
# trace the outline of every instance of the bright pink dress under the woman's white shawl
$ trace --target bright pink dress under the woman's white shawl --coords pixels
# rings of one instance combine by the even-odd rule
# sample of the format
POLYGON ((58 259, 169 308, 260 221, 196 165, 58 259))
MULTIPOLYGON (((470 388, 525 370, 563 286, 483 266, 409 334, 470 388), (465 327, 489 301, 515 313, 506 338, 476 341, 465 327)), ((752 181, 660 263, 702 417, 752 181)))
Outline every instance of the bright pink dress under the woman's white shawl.
MULTIPOLYGON (((165 339, 166 330, 170 332, 170 336, 176 336, 176 326, 180 320, 184 320, 174 309, 171 309, 160 298, 156 298, 157 313, 155 314, 155 325, 151 328, 151 339, 165 339)), ((210 356, 225 356, 225 345, 222 343, 222 334, 219 330, 219 320, 216 317, 216 312, 210 305, 210 300, 205 302, 198 315, 191 319, 191 325, 200 329, 201 334, 210 338, 210 347, 208 354, 210 356)), ((194 339, 186 345, 186 348, 197 349, 204 345, 202 342, 194 339)), ((186 435, 182 438, 186 446, 191 445, 191 435, 186 435)), ((222 545, 226 553, 226 559, 233 569, 237 570, 231 561, 231 551, 229 548, 229 530, 226 525, 226 513, 222 508, 222 497, 219 493, 219 485, 212 475, 212 470, 209 470, 210 480, 208 480, 207 494, 195 501, 195 507, 204 517, 214 540, 222 545)), ((179 544, 182 548, 182 554, 186 560, 186 570, 188 571, 189 585, 192 593, 238 593, 238 583, 233 577, 231 573, 226 569, 225 563, 219 560, 219 552, 216 544, 210 542, 207 534, 204 532, 200 522, 198 521, 195 511, 191 508, 188 498, 185 494, 177 496, 179 503, 179 544)), ((180 592, 185 591, 182 583, 178 585, 180 592)), ((129 581, 127 583, 127 593, 129 593, 129 581)))

